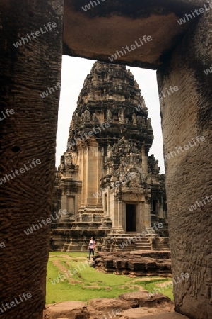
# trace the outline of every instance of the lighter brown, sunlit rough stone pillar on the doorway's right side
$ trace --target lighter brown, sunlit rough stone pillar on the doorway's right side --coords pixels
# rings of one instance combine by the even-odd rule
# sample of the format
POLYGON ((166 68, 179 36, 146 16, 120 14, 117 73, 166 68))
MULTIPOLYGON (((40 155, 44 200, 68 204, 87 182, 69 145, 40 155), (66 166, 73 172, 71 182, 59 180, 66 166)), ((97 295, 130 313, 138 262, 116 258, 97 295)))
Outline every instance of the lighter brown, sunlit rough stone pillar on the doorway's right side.
POLYGON ((172 277, 189 274, 174 285, 175 310, 194 319, 212 313, 212 74, 204 72, 212 63, 211 27, 212 10, 196 18, 158 69, 159 93, 178 87, 160 101, 172 277))

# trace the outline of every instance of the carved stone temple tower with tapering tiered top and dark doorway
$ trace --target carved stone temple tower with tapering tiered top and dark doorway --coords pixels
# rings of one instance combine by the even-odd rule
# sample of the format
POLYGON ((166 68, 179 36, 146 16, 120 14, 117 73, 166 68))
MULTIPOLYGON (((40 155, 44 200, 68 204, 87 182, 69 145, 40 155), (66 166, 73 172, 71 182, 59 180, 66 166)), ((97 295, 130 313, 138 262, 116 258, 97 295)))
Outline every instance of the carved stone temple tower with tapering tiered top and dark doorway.
POLYGON ((92 235, 99 250, 118 250, 136 233, 145 238, 131 249, 142 243, 153 248, 157 238, 167 237, 165 176, 148 156, 152 142, 151 120, 131 72, 95 62, 56 173, 53 210, 68 213, 52 225, 52 249, 86 250, 92 235))

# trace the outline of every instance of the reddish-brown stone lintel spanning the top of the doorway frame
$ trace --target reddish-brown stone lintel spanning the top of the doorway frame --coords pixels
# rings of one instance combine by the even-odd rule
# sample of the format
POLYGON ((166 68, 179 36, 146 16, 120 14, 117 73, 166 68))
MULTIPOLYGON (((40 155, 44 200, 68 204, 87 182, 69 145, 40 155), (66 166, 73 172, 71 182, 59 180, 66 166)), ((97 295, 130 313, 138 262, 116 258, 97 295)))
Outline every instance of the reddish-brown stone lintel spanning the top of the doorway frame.
POLYGON ((64 0, 64 54, 112 62, 119 51, 114 62, 157 69, 206 7, 205 0, 64 0))

